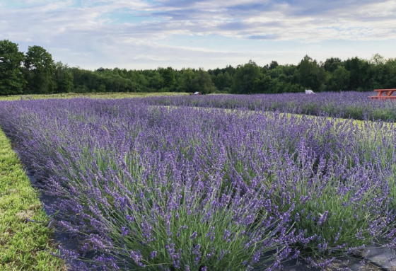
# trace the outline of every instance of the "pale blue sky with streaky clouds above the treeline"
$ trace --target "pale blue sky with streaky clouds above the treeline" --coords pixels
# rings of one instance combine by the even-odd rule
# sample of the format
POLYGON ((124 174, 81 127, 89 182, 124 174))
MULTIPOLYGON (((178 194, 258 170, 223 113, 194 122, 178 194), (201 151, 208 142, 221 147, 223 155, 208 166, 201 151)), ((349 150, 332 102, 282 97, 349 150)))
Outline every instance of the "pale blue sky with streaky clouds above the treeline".
POLYGON ((0 0, 0 40, 98 69, 396 57, 396 0, 0 0))

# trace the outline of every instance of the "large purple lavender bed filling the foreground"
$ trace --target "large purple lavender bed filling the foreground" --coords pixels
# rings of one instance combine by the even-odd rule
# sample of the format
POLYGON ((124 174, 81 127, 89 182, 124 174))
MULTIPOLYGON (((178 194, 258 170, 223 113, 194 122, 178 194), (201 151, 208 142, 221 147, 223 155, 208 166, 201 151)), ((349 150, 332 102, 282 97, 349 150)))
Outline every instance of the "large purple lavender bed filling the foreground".
POLYGON ((396 127, 146 103, 0 103, 1 128, 80 241, 64 250, 75 269, 325 266, 395 243, 396 127))

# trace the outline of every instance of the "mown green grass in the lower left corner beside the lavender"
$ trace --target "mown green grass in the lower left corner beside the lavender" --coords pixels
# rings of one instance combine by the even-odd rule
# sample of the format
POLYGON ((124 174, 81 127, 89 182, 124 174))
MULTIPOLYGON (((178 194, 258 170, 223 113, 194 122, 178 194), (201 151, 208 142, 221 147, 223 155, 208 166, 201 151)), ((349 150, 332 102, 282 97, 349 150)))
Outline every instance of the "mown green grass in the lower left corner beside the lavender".
POLYGON ((0 270, 66 270, 37 191, 0 129, 0 270), (30 221, 34 220, 36 222, 30 221))

